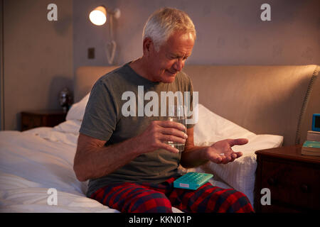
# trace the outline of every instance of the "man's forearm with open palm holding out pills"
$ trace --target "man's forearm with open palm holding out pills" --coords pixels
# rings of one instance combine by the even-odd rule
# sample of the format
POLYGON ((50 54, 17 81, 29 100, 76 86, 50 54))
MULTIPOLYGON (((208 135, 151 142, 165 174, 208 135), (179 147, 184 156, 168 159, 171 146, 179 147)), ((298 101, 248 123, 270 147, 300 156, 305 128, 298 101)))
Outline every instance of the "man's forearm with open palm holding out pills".
POLYGON ((231 147, 233 145, 244 145, 248 142, 247 139, 243 138, 227 139, 220 140, 208 147, 198 147, 193 143, 193 128, 187 129, 187 135, 186 148, 181 154, 181 165, 186 168, 197 167, 208 161, 218 164, 233 162, 236 158, 241 157, 242 153, 234 152, 231 147))

